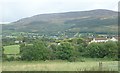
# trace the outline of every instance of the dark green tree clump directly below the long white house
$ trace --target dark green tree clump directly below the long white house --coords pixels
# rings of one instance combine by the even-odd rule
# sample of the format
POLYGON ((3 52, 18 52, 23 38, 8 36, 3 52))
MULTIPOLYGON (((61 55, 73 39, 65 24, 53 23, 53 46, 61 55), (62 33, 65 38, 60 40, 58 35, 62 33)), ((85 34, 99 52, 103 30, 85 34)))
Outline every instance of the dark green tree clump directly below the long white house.
POLYGON ((116 42, 91 43, 87 46, 87 56, 92 58, 116 58, 118 56, 118 46, 116 42))

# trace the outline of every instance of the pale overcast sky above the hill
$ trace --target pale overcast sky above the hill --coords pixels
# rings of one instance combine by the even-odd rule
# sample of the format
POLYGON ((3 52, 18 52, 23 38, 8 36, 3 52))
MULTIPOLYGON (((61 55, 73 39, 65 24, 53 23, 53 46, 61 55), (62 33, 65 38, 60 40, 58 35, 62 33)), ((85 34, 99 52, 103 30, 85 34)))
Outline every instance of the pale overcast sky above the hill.
POLYGON ((118 11, 119 0, 0 0, 0 23, 37 14, 108 9, 118 11))

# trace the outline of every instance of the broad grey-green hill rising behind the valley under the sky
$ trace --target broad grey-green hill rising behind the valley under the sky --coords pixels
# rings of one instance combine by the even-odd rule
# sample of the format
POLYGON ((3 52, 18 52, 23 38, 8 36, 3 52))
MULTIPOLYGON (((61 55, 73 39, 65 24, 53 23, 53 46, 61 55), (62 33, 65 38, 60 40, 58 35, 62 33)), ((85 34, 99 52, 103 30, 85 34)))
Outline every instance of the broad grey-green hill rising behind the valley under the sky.
POLYGON ((97 9, 39 14, 3 25, 3 34, 38 33, 73 35, 75 33, 117 33, 117 12, 97 9))

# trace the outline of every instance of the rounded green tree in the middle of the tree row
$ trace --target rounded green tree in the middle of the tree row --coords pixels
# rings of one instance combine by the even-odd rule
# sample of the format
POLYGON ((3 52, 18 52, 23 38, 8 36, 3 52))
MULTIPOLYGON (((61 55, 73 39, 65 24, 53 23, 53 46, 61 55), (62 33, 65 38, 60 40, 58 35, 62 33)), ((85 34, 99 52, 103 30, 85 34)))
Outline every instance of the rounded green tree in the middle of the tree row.
POLYGON ((61 43, 61 45, 59 45, 57 49, 59 59, 75 61, 76 59, 75 49, 70 43, 67 42, 61 43))

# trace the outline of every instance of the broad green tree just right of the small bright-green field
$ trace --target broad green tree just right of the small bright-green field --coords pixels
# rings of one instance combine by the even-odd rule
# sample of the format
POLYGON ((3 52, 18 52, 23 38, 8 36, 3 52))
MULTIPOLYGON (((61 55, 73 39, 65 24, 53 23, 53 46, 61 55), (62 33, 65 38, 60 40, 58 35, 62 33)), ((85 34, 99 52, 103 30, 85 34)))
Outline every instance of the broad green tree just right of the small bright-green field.
POLYGON ((49 49, 47 45, 40 40, 36 40, 33 45, 26 45, 21 49, 23 49, 23 51, 21 51, 22 60, 37 61, 49 59, 49 49))

